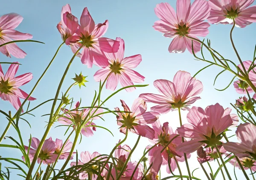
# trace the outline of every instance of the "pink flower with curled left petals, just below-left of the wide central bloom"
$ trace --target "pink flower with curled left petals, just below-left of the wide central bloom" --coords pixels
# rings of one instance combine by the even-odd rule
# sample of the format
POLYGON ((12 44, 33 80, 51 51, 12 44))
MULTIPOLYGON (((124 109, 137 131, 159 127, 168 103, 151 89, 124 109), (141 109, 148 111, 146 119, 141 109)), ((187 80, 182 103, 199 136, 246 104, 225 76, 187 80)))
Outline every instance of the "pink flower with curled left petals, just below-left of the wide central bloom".
MULTIPOLYGON (((126 129, 128 128, 128 131, 131 131, 132 133, 147 137, 148 139, 153 139, 154 130, 147 124, 152 124, 155 122, 159 118, 160 114, 151 111, 146 112, 147 105, 141 98, 134 100, 134 103, 131 106, 131 110, 123 100, 120 101, 122 103, 122 107, 124 107, 124 110, 131 112, 117 113, 117 125, 121 126, 120 132, 125 134, 126 129)), ((115 110, 120 111, 118 107, 116 107, 115 110)))

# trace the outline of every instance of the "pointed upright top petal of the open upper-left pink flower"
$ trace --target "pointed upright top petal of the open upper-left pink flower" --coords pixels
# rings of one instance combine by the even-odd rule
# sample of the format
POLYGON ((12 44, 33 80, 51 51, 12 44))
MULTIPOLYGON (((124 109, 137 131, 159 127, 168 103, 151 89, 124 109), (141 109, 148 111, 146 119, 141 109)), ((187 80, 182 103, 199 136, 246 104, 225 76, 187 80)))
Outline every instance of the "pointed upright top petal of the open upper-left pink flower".
POLYGON ((95 23, 93 21, 93 18, 91 17, 90 13, 88 12, 87 7, 84 8, 81 18, 80 18, 80 24, 81 29, 87 33, 87 35, 90 35, 95 27, 95 23))

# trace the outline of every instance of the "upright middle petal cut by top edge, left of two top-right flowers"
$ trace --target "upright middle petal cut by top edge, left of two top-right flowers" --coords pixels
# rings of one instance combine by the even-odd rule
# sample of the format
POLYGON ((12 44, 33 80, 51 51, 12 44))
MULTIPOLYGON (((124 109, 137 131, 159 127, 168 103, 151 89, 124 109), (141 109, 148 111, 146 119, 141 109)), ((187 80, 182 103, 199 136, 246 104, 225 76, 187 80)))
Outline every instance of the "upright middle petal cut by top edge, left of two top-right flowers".
POLYGON ((178 22, 187 22, 190 12, 190 0, 177 0, 176 11, 178 22))

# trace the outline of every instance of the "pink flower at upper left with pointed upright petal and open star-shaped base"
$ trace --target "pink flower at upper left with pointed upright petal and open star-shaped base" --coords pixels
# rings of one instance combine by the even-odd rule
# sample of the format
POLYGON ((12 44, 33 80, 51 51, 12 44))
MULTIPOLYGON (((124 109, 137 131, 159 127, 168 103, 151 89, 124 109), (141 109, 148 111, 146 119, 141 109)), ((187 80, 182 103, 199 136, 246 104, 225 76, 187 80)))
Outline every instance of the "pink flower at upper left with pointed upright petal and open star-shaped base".
POLYGON ((109 38, 102 38, 108 29, 108 20, 104 23, 95 25, 93 18, 88 12, 87 8, 84 8, 80 24, 76 34, 70 36, 65 41, 67 45, 75 44, 72 49, 76 51, 80 46, 83 46, 81 52, 81 62, 87 64, 88 68, 91 68, 93 64, 98 66, 108 66, 108 60, 102 55, 103 52, 117 52, 119 49, 119 42, 109 38))

